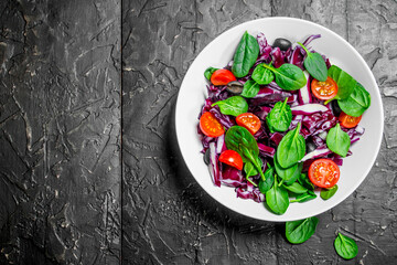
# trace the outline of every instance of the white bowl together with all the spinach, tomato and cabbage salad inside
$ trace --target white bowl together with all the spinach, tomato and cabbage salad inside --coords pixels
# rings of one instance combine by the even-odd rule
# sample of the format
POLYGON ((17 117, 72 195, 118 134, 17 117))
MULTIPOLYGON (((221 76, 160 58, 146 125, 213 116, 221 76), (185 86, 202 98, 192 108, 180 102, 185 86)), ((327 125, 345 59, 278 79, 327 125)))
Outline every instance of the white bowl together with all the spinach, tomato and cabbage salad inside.
POLYGON ((276 222, 352 194, 375 162, 383 120, 358 52, 291 18, 248 21, 213 40, 190 65, 175 108, 197 183, 230 210, 276 222))

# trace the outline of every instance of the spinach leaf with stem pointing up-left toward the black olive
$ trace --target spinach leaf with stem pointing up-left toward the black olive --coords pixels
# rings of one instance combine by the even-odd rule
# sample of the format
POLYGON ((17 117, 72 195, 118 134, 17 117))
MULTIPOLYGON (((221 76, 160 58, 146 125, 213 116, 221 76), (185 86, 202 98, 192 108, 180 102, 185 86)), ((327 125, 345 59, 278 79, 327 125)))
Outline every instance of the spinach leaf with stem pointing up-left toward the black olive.
POLYGON ((328 77, 328 68, 324 59, 320 55, 320 53, 310 52, 302 43, 298 42, 298 44, 301 45, 307 53, 307 57, 303 61, 305 70, 315 80, 325 82, 328 77))

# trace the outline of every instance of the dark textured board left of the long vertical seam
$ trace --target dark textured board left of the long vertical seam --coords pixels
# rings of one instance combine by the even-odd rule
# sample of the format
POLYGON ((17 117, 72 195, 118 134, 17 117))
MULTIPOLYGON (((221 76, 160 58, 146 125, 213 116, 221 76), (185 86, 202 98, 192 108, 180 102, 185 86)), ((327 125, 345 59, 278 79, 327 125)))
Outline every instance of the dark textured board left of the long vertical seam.
POLYGON ((120 1, 0 1, 0 264, 120 261, 120 1))

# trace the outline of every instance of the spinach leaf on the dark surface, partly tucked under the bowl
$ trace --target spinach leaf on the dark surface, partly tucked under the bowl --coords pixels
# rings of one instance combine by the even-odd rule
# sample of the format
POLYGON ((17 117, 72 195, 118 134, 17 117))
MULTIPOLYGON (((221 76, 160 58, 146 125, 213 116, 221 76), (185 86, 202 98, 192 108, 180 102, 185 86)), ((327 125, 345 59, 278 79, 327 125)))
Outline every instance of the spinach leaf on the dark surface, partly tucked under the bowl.
POLYGON ((315 216, 286 222, 286 237, 292 244, 301 244, 314 234, 318 223, 315 216))

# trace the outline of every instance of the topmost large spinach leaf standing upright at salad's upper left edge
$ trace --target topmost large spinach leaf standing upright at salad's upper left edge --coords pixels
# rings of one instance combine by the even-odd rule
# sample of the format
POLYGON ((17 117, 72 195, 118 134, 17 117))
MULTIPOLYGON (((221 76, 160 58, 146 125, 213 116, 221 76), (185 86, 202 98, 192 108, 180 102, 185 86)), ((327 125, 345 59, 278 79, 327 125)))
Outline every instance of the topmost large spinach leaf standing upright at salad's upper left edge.
POLYGON ((232 72, 236 77, 244 77, 249 73, 259 55, 259 44, 257 40, 246 31, 233 59, 232 72))

